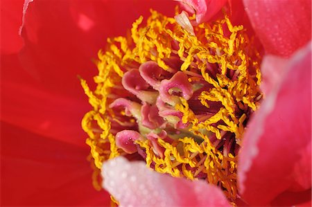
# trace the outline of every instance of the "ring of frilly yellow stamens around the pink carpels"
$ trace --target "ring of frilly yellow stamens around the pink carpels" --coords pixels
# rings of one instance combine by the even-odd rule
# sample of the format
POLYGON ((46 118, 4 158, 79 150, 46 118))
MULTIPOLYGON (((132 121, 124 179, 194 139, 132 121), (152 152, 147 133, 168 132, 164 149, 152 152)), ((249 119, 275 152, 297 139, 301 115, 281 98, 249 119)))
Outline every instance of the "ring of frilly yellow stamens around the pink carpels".
MULTIPOLYGON (((182 112, 182 123, 189 126, 181 130, 181 137, 173 143, 162 138, 156 140, 164 149, 163 156, 155 152, 144 135, 144 140, 135 143, 146 153, 146 165, 152 168, 153 163, 157 172, 191 180, 205 177, 234 201, 238 157, 227 145, 239 148, 246 121, 259 105, 260 58, 243 26, 233 26, 227 16, 193 29, 196 35, 191 35, 174 18, 151 10, 146 26, 143 26, 143 17, 139 17, 132 24, 129 37, 107 39, 107 51, 98 52, 96 89, 91 91, 85 80, 80 80, 93 107, 82 120, 89 136, 86 143, 91 147, 90 154, 98 169, 104 161, 124 155, 116 145, 112 121, 122 123, 119 117, 125 117, 125 111, 108 107, 120 97, 123 74, 148 61, 157 62, 164 71, 172 71, 168 60, 175 55, 182 60, 180 71, 189 75, 189 82, 202 80, 211 86, 198 96, 202 107, 207 110, 214 104, 221 107, 214 114, 200 116, 194 113, 188 100, 180 97, 174 109, 182 112), (215 76, 209 73, 209 65, 218 67, 215 76), (234 136, 234 143, 225 145, 226 134, 234 136), (216 138, 211 141, 213 136, 216 138), (224 146, 220 147, 223 142, 224 146)), ((128 123, 133 124, 134 120, 129 119, 128 123)))

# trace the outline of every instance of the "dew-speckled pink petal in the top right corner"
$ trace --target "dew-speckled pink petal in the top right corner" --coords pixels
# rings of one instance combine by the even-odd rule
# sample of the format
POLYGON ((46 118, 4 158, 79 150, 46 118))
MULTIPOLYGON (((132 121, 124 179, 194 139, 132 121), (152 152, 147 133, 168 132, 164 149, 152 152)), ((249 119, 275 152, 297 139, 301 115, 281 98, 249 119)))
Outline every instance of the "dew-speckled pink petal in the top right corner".
POLYGON ((244 0, 267 53, 288 57, 311 39, 311 1, 244 0))

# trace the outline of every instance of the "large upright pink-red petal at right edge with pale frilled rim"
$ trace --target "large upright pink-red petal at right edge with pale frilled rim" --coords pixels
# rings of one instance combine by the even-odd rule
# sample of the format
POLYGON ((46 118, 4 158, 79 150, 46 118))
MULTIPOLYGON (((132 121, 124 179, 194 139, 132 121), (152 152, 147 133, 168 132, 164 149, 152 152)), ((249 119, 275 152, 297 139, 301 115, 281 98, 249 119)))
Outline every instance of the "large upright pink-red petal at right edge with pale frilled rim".
MULTIPOLYGON (((269 204, 301 183, 298 176, 308 175, 297 174, 298 162, 305 162, 302 172, 311 172, 311 163, 302 158, 311 142, 311 43, 281 71, 282 78, 250 121, 240 152, 239 186, 251 205, 269 204)), ((304 186, 311 188, 311 183, 304 186)))

